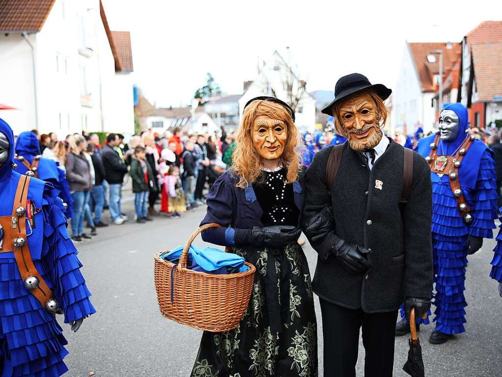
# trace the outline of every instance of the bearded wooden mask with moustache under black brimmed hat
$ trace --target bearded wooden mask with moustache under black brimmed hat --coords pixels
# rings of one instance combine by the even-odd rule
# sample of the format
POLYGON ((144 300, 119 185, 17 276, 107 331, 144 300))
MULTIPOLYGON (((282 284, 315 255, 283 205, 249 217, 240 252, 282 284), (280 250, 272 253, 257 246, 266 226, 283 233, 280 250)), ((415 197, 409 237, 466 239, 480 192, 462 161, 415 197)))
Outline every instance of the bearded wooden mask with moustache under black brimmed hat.
POLYGON ((353 150, 374 148, 380 143, 383 135, 380 117, 369 95, 355 95, 343 101, 339 119, 353 150))

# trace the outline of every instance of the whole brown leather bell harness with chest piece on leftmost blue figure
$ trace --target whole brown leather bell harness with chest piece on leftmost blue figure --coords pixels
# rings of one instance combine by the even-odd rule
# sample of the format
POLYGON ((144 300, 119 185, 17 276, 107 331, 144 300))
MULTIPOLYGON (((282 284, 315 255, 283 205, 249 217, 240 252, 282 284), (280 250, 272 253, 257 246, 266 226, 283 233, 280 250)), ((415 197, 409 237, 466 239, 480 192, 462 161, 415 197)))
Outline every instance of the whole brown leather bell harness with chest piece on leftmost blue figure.
POLYGON ((27 175, 20 177, 12 216, 0 217, 0 225, 4 230, 4 239, 0 246, 0 253, 14 252, 25 288, 35 296, 47 311, 57 313, 59 311, 59 303, 54 299, 51 289, 42 275, 37 271, 28 246, 25 214, 30 179, 31 177, 27 175))

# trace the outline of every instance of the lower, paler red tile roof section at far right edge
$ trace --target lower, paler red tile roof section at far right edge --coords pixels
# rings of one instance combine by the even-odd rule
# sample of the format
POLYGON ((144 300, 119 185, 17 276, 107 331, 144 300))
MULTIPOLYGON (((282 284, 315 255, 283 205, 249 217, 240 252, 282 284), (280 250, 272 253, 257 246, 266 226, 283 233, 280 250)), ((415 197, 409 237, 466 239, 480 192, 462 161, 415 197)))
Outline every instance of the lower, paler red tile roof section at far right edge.
POLYGON ((502 41, 473 44, 472 59, 478 101, 502 96, 502 41))

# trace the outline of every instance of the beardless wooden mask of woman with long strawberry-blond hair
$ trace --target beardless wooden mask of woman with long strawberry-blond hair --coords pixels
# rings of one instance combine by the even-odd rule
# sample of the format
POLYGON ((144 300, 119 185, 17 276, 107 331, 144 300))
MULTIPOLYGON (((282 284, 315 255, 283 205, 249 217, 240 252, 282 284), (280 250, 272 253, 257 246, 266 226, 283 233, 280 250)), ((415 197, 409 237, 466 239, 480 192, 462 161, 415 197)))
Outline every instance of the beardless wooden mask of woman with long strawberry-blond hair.
POLYGON ((260 116, 256 119, 252 130, 253 146, 265 160, 277 160, 281 157, 288 128, 283 121, 260 116))

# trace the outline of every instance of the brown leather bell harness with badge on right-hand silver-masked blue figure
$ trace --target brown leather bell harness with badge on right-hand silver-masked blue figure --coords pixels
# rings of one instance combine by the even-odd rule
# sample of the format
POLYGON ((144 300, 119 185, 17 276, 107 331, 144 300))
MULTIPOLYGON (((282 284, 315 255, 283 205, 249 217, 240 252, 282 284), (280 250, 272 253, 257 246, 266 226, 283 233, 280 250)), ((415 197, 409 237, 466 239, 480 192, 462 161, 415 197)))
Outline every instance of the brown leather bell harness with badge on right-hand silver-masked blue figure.
POLYGON ((460 168, 460 163, 462 162, 465 153, 467 153, 467 150, 472 145, 473 141, 474 137, 467 135, 455 155, 446 156, 437 154, 437 147, 440 142, 440 137, 437 135, 434 138, 434 142, 430 145, 431 152, 425 158, 431 166, 431 172, 438 174, 440 177, 444 174, 448 174, 448 177, 450 178, 450 189, 457 201, 457 210, 466 224, 470 224, 474 219, 470 214, 470 207, 462 194, 462 186, 458 176, 458 169, 460 168))

